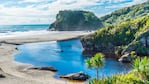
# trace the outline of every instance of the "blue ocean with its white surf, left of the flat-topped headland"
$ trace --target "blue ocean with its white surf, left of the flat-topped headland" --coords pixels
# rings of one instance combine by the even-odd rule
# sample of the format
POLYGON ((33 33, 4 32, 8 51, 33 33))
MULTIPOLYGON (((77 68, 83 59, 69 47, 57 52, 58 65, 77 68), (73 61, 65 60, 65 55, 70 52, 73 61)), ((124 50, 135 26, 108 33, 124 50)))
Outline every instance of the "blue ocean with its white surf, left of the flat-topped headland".
POLYGON ((47 31, 49 24, 0 25, 0 38, 55 33, 47 31))

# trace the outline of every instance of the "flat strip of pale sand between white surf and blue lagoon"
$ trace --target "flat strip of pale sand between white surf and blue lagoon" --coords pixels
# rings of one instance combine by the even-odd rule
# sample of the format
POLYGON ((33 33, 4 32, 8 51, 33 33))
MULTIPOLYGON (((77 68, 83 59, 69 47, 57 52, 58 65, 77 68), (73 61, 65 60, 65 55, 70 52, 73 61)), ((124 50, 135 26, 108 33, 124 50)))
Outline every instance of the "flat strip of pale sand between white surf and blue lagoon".
POLYGON ((62 31, 57 33, 45 33, 40 35, 24 35, 15 37, 0 37, 0 42, 7 42, 9 44, 24 44, 24 43, 34 43, 34 42, 47 42, 47 41, 60 41, 69 40, 73 38, 79 38, 83 35, 87 35, 93 32, 86 31, 62 31))

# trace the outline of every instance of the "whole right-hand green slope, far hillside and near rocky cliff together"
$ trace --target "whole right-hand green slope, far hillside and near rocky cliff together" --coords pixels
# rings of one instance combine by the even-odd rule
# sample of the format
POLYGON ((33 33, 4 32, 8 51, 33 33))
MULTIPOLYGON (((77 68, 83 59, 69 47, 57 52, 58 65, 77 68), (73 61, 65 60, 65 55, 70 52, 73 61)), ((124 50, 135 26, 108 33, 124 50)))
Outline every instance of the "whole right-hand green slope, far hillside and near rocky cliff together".
POLYGON ((119 58, 124 54, 130 57, 134 51, 139 56, 149 55, 149 1, 112 12, 100 21, 103 28, 81 39, 83 54, 114 53, 119 58))

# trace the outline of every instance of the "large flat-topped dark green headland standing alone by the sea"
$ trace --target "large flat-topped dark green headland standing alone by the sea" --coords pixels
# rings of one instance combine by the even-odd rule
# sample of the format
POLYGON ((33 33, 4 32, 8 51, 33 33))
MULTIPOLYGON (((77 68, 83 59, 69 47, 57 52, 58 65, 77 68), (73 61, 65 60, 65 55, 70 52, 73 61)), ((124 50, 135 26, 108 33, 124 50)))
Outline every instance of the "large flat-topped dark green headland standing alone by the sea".
POLYGON ((56 21, 51 24, 49 30, 79 31, 96 30, 103 27, 99 18, 89 11, 60 11, 56 15, 56 21))

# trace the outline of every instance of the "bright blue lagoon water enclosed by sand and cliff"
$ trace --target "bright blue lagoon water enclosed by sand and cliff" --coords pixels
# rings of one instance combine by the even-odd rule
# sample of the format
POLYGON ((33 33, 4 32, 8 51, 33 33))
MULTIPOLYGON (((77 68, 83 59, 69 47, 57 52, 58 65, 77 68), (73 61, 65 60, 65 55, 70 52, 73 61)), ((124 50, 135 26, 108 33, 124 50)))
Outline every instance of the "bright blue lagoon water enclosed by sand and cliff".
MULTIPOLYGON (((56 76, 84 72, 95 76, 95 69, 88 69, 84 63, 87 59, 82 55, 80 40, 51 41, 41 43, 28 43, 17 46, 19 52, 15 61, 29 63, 34 66, 53 66, 58 69, 56 76)), ((123 64, 112 58, 107 58, 103 67, 104 75, 110 76, 116 73, 125 73, 131 69, 131 65, 123 64)), ((100 69, 101 70, 101 69, 100 69)), ((102 73, 99 73, 102 76, 102 73)))

